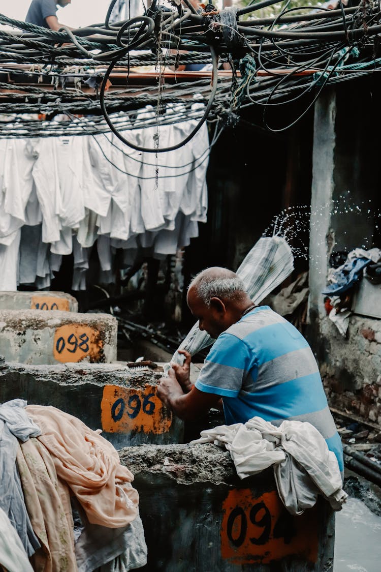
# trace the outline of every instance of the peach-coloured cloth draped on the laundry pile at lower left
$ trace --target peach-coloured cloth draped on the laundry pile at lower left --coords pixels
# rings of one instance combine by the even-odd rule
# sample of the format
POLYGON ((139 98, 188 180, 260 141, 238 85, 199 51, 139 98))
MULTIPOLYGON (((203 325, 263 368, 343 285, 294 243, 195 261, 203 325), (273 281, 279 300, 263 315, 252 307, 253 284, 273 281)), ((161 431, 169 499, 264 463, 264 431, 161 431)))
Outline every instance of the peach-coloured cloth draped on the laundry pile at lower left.
POLYGON ((114 446, 73 415, 55 407, 29 405, 27 415, 41 427, 38 440, 53 457, 57 475, 65 481, 89 522, 116 529, 138 514, 134 475, 121 465, 114 446))

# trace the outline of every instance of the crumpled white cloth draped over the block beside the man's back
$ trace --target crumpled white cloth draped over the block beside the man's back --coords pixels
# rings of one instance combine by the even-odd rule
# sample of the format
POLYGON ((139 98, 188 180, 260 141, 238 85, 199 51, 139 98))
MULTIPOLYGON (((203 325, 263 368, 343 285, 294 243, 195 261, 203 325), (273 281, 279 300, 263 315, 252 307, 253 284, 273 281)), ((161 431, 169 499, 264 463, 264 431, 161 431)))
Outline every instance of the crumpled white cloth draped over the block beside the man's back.
POLYGON ((274 466, 279 497, 291 514, 314 506, 319 494, 336 511, 347 499, 336 455, 311 423, 286 420, 276 427, 253 417, 202 431, 191 443, 210 442, 227 448, 240 479, 274 466))

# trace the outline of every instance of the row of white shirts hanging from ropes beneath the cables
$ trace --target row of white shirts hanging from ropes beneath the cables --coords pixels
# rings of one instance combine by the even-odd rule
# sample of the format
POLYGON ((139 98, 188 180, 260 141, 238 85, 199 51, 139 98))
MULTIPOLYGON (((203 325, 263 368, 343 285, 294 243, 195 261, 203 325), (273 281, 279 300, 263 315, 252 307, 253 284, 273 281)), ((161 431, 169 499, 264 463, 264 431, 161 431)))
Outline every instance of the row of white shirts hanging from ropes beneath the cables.
MULTIPOLYGON (((195 101, 183 121, 166 124, 179 106, 167 106, 159 119, 146 106, 134 125, 118 116, 121 133, 141 147, 173 146, 195 128, 203 108, 195 101), (144 126, 149 118, 159 126, 144 126)), ((95 241, 104 283, 113 280, 117 248, 128 267, 137 252, 160 259, 189 245, 206 222, 209 150, 206 124, 178 150, 157 154, 138 152, 111 133, 2 139, 0 290, 49 287, 62 256, 72 252, 73 289, 85 289, 95 241)))

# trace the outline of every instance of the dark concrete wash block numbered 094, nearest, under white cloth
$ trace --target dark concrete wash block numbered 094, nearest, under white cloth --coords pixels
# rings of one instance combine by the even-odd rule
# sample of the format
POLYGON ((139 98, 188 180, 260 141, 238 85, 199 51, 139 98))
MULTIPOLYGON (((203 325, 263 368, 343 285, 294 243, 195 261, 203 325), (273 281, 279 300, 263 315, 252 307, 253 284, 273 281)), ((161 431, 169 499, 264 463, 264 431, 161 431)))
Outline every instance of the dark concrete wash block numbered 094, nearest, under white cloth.
POLYGON ((240 480, 212 444, 119 451, 134 474, 148 547, 142 572, 329 572, 334 513, 321 497, 298 517, 282 505, 272 468, 240 480))

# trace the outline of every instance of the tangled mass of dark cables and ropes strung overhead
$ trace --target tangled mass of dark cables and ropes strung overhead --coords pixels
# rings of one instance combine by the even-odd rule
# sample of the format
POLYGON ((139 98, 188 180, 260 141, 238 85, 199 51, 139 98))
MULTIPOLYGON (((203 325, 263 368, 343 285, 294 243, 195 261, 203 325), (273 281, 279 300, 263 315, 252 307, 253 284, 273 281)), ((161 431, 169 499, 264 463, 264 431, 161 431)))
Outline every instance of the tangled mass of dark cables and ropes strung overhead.
MULTIPOLYGON (((203 5, 203 11, 197 11, 189 0, 170 0, 171 9, 153 0, 142 15, 111 23, 116 1, 111 0, 104 23, 77 30, 65 26, 59 31, 42 29, 0 14, 0 23, 12 26, 11 30, 0 30, 0 113, 102 112, 103 119, 94 123, 102 130, 111 129, 133 149, 160 153, 189 141, 207 117, 234 124, 240 110, 250 106, 263 108, 263 122, 268 129, 287 129, 307 113, 327 84, 381 70, 380 0, 360 0, 358 6, 350 7, 337 0, 337 9, 290 7, 290 0, 284 0, 279 13, 270 18, 259 18, 257 14, 279 4, 278 0, 252 0, 244 8, 223 10, 210 3, 203 5), (220 61, 230 63, 231 78, 219 78, 220 61), (166 148, 159 148, 158 138, 150 149, 126 140, 115 123, 117 111, 134 113, 139 107, 154 105, 158 125, 162 121, 160 110, 169 103, 181 100, 186 106, 185 116, 190 113, 189 100, 196 83, 167 85, 163 79, 169 66, 176 69, 182 62, 212 65, 211 86, 210 77, 196 80, 196 92, 204 103, 198 125, 185 141, 166 148), (129 84, 129 74, 131 67, 142 65, 155 66, 157 85, 154 89, 152 85, 141 87, 138 92, 129 84), (36 73, 36 67, 39 77, 43 81, 50 78, 54 89, 38 83, 18 89, 17 82, 4 81, 12 76, 10 69, 26 76, 36 73), (124 69, 125 84, 110 92, 107 80, 120 69, 124 69), (68 78, 75 78, 73 88, 68 78), (64 84, 61 88, 57 83, 60 81, 64 84), (94 93, 83 89, 86 82, 93 82, 94 93), (271 109, 296 101, 307 103, 295 120, 280 128, 268 124, 271 109)), ((24 125, 29 129, 30 118, 27 121, 24 125)), ((22 121, 13 122, 17 130, 16 125, 21 126, 22 121)))

